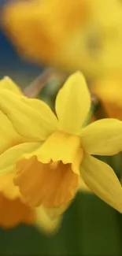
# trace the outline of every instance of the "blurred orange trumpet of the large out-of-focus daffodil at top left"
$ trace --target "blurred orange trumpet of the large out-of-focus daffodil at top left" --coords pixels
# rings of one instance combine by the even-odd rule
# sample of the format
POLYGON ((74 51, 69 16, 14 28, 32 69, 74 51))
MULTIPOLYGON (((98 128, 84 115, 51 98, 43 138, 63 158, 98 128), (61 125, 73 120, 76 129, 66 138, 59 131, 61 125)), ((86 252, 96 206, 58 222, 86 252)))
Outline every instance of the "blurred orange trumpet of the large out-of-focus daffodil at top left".
POLYGON ((3 13, 3 24, 13 42, 36 61, 57 63, 65 37, 83 24, 83 1, 34 0, 11 3, 3 13), (31 29, 31 33, 30 33, 31 29), (19 33, 19 34, 18 34, 19 33))

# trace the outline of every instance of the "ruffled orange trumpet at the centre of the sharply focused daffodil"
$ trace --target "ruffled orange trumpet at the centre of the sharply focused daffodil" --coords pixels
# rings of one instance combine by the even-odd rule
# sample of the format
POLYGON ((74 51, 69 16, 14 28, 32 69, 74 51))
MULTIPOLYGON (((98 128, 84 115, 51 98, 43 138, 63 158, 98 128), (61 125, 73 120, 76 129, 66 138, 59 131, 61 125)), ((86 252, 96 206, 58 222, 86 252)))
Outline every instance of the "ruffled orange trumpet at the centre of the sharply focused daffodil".
POLYGON ((26 202, 56 208, 72 200, 79 187, 80 144, 77 135, 54 132, 39 150, 20 158, 14 182, 26 202))

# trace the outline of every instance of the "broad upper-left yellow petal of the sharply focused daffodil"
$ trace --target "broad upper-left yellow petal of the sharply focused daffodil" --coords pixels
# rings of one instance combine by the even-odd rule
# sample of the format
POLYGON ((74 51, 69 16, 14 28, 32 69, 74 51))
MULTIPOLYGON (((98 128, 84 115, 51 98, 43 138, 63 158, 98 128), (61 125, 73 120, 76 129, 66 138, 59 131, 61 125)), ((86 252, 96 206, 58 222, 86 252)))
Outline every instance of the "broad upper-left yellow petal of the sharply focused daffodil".
POLYGON ((23 137, 40 141, 57 129, 57 118, 46 103, 7 90, 0 91, 0 109, 23 137))

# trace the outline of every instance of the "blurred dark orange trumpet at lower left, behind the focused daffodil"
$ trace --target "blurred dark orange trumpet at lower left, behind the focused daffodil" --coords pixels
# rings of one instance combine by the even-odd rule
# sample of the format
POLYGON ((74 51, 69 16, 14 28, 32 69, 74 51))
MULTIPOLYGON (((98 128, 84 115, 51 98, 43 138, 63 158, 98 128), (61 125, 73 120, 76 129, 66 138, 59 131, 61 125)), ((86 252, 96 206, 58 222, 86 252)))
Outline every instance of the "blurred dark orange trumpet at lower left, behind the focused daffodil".
POLYGON ((13 174, 0 175, 0 227, 12 228, 20 223, 32 224, 35 210, 22 202, 13 174))

